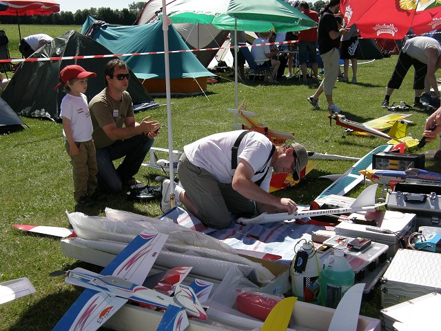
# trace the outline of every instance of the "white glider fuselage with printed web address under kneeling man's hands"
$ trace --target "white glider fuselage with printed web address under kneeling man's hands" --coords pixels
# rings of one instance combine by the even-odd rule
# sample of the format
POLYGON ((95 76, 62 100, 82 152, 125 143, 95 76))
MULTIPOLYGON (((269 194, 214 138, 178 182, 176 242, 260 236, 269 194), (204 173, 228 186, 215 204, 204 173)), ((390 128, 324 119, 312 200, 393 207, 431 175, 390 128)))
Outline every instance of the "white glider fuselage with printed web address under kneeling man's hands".
POLYGON ((375 196, 378 185, 371 185, 363 192, 360 193, 356 201, 353 201, 350 207, 348 208, 336 208, 336 209, 323 209, 323 210, 306 210, 302 212, 293 212, 292 214, 288 214, 287 212, 280 212, 278 214, 268 214, 264 212, 256 217, 251 219, 240 217, 236 223, 240 224, 265 224, 265 223, 274 223, 281 221, 289 221, 291 219, 303 219, 305 217, 317 217, 317 216, 325 216, 331 214, 345 214, 351 212, 357 212, 360 210, 369 210, 374 209, 378 206, 375 204, 375 196))

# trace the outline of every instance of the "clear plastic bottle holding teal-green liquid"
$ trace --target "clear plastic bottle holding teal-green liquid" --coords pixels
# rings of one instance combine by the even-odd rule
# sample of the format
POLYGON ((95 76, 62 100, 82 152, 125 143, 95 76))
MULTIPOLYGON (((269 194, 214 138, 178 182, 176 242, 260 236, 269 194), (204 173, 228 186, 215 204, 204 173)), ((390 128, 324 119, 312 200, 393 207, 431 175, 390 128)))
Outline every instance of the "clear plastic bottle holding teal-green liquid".
POLYGON ((342 250, 334 250, 334 263, 327 261, 325 268, 320 272, 320 298, 322 305, 337 308, 340 299, 353 285, 355 274, 351 265, 345 259, 342 250))

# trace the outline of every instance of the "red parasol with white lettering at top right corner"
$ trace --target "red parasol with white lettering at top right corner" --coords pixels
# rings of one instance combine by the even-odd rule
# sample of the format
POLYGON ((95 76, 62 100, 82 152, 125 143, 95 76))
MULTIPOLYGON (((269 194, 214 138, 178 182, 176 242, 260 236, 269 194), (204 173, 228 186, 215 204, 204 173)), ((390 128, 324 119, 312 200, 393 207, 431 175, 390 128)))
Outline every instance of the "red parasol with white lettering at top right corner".
POLYGON ((363 38, 403 39, 441 26, 441 3, 435 0, 341 0, 347 26, 356 24, 363 38))

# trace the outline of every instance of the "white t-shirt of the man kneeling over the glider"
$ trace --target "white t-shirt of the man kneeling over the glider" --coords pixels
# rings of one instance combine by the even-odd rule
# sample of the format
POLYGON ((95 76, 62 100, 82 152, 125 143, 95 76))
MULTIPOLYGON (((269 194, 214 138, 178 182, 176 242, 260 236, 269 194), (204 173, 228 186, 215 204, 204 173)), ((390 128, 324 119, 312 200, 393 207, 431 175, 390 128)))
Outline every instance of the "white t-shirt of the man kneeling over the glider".
MULTIPOLYGON (((184 146, 185 155, 193 165, 207 170, 220 183, 231 183, 234 174, 232 172, 232 147, 242 131, 220 132, 194 141, 184 146)), ((267 159, 272 147, 273 144, 267 137, 254 131, 245 134, 240 141, 238 159, 247 161, 254 172, 264 170, 260 174, 255 174, 252 181, 256 182, 262 178, 266 169, 269 168, 270 161, 267 162, 267 159)), ((265 180, 260 184, 263 190, 269 190, 271 174, 272 169, 269 169, 265 180)))

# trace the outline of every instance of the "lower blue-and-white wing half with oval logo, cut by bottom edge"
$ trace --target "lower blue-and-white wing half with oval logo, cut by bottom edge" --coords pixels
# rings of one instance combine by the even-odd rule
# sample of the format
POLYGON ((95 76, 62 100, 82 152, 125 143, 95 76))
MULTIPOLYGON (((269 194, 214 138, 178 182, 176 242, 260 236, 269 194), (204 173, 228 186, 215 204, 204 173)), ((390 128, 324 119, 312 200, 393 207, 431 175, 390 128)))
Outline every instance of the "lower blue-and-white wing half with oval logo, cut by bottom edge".
POLYGON ((52 331, 94 331, 119 310, 127 299, 86 288, 52 331))

